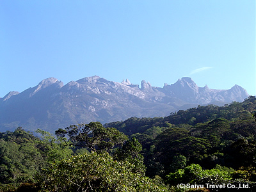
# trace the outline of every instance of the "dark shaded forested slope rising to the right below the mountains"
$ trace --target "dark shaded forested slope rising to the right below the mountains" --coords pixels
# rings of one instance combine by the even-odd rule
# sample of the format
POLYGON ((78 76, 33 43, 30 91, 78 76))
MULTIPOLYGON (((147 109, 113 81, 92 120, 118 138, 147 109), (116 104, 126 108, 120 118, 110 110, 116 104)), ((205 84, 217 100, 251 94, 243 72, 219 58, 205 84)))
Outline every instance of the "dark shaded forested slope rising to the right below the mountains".
POLYGON ((173 161, 179 155, 186 158, 186 164, 200 164, 209 169, 216 164, 233 168, 255 166, 255 109, 256 98, 249 97, 244 102, 221 107, 198 106, 164 118, 132 117, 106 125, 138 139, 143 147, 141 154, 147 175, 164 177, 179 168, 179 163, 175 165, 173 161), (232 144, 242 138, 248 140, 248 145, 232 144))

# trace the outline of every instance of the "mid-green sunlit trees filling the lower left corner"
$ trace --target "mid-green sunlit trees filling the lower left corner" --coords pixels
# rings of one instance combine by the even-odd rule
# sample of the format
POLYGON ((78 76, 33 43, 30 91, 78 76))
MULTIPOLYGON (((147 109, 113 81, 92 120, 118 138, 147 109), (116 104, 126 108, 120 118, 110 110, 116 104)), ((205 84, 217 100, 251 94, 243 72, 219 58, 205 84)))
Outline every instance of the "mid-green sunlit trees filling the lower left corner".
POLYGON ((21 127, 14 132, 0 132, 0 189, 3 191, 17 188, 21 183, 24 184, 19 190, 27 188, 49 163, 71 156, 72 150, 49 132, 39 129, 37 132, 42 134, 41 140, 21 127))

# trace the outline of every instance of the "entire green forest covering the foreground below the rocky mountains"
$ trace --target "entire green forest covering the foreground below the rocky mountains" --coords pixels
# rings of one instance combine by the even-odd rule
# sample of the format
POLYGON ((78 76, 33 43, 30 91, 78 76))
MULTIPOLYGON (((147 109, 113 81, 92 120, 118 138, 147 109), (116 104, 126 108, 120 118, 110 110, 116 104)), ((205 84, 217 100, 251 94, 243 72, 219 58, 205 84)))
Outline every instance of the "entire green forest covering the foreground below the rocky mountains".
POLYGON ((0 132, 0 191, 256 191, 256 98, 0 132))

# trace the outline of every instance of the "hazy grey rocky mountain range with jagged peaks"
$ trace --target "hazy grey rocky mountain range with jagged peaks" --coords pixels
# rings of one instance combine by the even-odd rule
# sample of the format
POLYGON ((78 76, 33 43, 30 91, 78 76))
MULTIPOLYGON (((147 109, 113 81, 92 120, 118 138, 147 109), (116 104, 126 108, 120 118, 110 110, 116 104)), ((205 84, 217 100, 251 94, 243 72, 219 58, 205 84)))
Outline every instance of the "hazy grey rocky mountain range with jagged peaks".
POLYGON ((167 116, 198 105, 223 105, 248 98, 241 86, 229 90, 198 87, 190 77, 182 77, 163 88, 141 81, 141 86, 108 81, 99 76, 63 84, 53 77, 24 92, 10 92, 0 99, 0 131, 17 127, 53 132, 70 124, 99 121, 102 124, 131 116, 167 116))

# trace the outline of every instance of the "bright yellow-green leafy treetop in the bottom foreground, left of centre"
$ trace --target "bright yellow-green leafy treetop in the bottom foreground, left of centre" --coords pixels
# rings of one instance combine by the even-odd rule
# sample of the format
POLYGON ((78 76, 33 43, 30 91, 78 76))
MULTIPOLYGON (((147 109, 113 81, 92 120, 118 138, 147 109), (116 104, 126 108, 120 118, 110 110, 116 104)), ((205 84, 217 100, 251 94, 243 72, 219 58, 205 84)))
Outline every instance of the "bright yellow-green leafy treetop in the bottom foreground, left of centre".
POLYGON ((46 191, 167 191, 154 180, 132 173, 133 168, 134 164, 114 161, 106 152, 92 152, 52 164, 40 183, 46 191))

